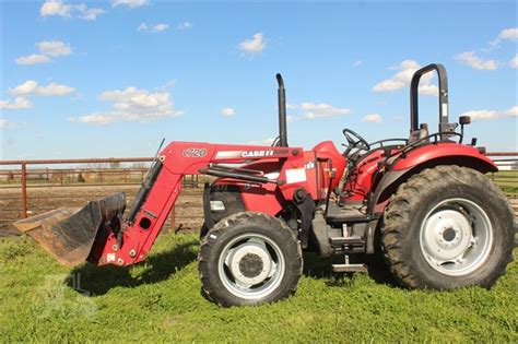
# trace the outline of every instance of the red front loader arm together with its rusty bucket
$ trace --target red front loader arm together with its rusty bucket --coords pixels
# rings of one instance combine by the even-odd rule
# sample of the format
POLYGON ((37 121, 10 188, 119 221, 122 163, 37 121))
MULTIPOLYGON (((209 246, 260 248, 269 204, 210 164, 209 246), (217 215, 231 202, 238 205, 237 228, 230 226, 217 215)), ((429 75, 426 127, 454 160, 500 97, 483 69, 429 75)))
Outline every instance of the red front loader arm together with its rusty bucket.
POLYGON ((15 225, 64 265, 85 260, 96 265, 131 265, 144 260, 162 230, 185 175, 212 175, 252 183, 275 183, 285 200, 307 188, 304 152, 299 147, 173 142, 160 152, 123 216, 122 193, 23 220, 15 225), (231 167, 251 161, 279 162, 279 177, 231 167), (301 178, 303 176, 303 178, 301 178))

